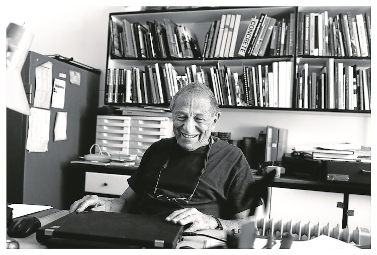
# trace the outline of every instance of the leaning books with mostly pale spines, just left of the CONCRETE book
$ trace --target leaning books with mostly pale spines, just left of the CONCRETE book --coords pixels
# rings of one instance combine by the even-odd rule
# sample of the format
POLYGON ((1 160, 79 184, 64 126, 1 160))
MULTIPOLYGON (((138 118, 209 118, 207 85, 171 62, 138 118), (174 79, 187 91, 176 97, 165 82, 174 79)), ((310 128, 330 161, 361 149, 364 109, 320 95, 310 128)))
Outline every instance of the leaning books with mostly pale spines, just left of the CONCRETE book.
POLYGON ((202 57, 234 57, 240 22, 239 14, 223 14, 220 20, 213 21, 206 34, 202 57))

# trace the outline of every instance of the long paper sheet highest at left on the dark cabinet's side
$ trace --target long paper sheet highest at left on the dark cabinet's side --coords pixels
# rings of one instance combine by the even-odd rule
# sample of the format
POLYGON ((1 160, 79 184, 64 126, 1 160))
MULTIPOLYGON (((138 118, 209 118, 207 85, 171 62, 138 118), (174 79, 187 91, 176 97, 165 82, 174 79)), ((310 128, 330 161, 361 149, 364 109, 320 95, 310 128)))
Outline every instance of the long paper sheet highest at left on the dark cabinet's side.
POLYGON ((48 61, 35 68, 34 107, 49 109, 52 92, 52 62, 48 61))

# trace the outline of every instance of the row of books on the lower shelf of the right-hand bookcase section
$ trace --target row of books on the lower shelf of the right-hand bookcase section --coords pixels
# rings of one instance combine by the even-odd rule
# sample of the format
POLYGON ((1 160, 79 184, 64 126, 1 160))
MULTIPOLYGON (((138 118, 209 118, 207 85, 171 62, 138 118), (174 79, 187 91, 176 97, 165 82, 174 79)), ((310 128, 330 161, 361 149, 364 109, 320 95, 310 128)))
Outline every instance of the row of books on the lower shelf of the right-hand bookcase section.
POLYGON ((293 94, 295 108, 370 110, 370 68, 326 61, 320 73, 299 68, 293 94))

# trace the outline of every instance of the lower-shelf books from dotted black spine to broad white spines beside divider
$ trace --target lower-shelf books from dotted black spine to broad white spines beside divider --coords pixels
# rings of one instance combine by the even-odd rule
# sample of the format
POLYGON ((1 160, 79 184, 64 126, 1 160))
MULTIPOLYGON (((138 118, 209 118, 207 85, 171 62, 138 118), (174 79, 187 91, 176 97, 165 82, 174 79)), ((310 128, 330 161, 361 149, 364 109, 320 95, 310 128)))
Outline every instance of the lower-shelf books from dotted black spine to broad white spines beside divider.
POLYGON ((257 107, 292 107, 292 67, 290 61, 271 65, 243 65, 244 105, 257 107))

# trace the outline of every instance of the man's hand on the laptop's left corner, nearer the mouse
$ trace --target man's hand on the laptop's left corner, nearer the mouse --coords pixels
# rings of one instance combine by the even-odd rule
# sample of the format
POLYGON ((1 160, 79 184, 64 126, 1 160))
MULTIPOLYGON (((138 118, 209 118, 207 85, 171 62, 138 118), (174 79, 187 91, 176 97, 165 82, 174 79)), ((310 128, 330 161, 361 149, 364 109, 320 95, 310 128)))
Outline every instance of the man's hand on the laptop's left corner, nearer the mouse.
POLYGON ((69 208, 71 212, 83 212, 87 207, 92 206, 92 211, 109 212, 113 208, 113 203, 109 200, 102 200, 97 195, 87 195, 80 200, 75 201, 69 208))

